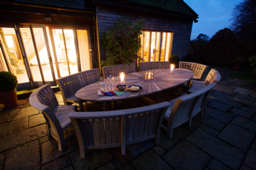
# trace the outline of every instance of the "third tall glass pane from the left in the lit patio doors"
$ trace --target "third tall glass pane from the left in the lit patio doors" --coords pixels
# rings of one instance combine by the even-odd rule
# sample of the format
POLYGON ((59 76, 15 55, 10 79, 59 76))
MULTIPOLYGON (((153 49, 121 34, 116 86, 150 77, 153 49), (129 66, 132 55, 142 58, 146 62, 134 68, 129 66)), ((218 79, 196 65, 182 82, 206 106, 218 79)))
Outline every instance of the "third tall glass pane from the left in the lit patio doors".
POLYGON ((38 49, 38 55, 44 75, 44 81, 53 81, 52 72, 49 65, 48 51, 44 40, 43 28, 32 28, 32 30, 36 40, 36 48, 38 49))

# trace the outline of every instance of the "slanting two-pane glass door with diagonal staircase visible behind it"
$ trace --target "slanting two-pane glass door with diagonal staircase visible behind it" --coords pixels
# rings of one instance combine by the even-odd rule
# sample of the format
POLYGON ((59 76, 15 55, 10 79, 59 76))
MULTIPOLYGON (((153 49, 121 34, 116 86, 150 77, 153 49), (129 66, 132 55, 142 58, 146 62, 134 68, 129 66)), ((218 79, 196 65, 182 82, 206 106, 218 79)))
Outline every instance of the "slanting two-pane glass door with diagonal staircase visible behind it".
POLYGON ((25 52, 32 86, 55 85, 55 75, 45 26, 17 26, 21 48, 25 52))

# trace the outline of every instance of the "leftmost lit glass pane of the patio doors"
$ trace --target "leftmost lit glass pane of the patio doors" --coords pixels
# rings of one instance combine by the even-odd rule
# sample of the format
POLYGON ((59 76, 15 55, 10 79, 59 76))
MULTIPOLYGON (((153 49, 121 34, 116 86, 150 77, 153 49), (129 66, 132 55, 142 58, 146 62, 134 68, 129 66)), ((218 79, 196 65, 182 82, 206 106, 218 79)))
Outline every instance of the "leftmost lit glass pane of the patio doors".
POLYGON ((2 49, 2 52, 4 53, 4 51, 9 51, 4 53, 8 59, 6 60, 6 63, 11 65, 11 68, 9 69, 12 69, 19 83, 29 82, 23 56, 20 52, 20 45, 16 37, 15 28, 0 28, 0 30, 1 29, 4 34, 4 37, 1 37, 1 39, 3 39, 2 45, 5 48, 5 50, 2 49))

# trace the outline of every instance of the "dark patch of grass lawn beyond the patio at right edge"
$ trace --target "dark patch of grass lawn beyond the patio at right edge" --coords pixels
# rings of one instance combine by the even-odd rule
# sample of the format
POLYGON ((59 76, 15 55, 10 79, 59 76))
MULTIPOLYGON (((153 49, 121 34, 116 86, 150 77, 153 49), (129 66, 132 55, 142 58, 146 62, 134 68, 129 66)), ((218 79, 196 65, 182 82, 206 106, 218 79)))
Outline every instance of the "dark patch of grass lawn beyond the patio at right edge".
POLYGON ((254 74, 252 68, 242 68, 240 71, 230 74, 230 77, 239 78, 256 85, 256 75, 254 74))

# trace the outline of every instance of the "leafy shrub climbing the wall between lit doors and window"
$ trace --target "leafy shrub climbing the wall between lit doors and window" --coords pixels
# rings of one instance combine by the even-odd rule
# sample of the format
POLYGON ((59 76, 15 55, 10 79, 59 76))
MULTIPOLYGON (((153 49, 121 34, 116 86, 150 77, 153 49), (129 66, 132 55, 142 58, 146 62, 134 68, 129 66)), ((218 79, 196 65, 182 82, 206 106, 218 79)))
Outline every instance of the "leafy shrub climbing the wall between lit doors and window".
POLYGON ((140 35, 145 20, 131 20, 127 17, 119 18, 119 22, 109 29, 103 37, 106 45, 106 60, 102 66, 133 63, 135 59, 141 60, 137 55, 141 48, 140 35))

